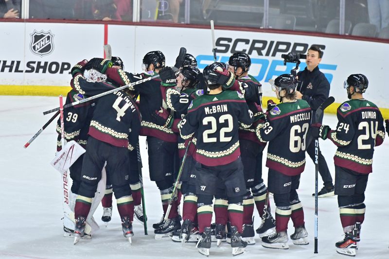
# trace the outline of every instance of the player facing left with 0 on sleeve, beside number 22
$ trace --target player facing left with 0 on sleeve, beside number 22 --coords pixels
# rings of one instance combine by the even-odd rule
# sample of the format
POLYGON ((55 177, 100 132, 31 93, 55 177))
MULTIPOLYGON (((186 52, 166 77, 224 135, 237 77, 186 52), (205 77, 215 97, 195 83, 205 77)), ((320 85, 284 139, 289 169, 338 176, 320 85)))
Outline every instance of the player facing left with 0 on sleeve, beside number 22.
MULTIPOLYGON (((187 54, 188 56, 188 54, 187 54)), ((186 56, 186 57, 187 57, 186 56)), ((186 58, 185 57, 185 58, 186 58)), ((186 60, 186 59, 185 59, 186 60)), ((184 60, 184 63, 186 62, 184 60)), ((187 62, 188 63, 188 62, 187 62)), ((194 64, 194 63, 192 63, 194 64)), ((156 121, 160 121, 159 125, 165 125, 171 128, 174 132, 179 133, 177 124, 184 115, 187 113, 188 106, 192 100, 202 95, 201 90, 197 90, 198 78, 200 70, 193 66, 184 66, 180 73, 177 75, 177 89, 166 87, 164 101, 168 108, 175 111, 175 118, 168 113, 167 110, 156 111, 156 121)), ((169 78, 167 80, 171 80, 169 78)), ((167 85, 165 82, 162 85, 167 85)), ((173 84, 174 85, 174 84, 173 84)), ((170 86, 173 86, 170 85, 170 86)), ((189 141, 192 139, 182 139, 178 137, 178 155, 182 160, 186 147, 189 141)), ((183 224, 179 231, 173 233, 172 240, 176 242, 197 242, 198 229, 197 229, 197 196, 195 191, 195 173, 193 172, 195 166, 195 160, 192 157, 194 155, 194 144, 189 147, 188 155, 186 156, 185 164, 181 173, 181 193, 184 196, 184 204, 182 209, 183 224)), ((179 197, 178 197, 179 200, 179 197)))

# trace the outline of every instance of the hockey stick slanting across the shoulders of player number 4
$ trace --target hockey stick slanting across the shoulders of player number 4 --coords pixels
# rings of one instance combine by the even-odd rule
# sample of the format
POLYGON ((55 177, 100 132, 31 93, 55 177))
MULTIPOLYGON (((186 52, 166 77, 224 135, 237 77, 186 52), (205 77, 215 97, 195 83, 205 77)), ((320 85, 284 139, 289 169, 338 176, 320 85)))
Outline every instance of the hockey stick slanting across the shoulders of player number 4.
MULTIPOLYGON (((177 62, 176 64, 174 65, 174 67, 172 68, 175 72, 178 70, 178 68, 180 68, 182 66, 182 62, 184 61, 184 58, 185 58, 185 54, 186 54, 186 49, 184 47, 181 47, 181 49, 179 50, 179 54, 178 54, 178 59, 177 59, 177 62)), ((110 94, 110 93, 114 93, 114 92, 117 92, 117 91, 120 91, 120 90, 123 90, 127 87, 130 87, 130 86, 135 86, 135 85, 140 85, 144 82, 147 82, 147 81, 150 81, 150 80, 153 80, 155 78, 158 78, 159 77, 159 74, 158 75, 153 75, 153 76, 150 76, 148 78, 144 78, 142 80, 139 80, 137 82, 133 82, 129 85, 125 85, 125 86, 120 86, 118 88, 115 88, 115 89, 112 89, 112 90, 109 90, 109 91, 106 91, 104 93, 100 93, 100 94, 96 94, 94 96, 91 96, 89 98, 85 98, 85 99, 82 99, 82 100, 77 100, 71 104, 66 104, 64 105, 64 108, 68 108, 68 107, 71 107, 71 106, 74 106, 74 105, 77 105, 77 104, 83 104, 83 103, 86 103, 86 102, 89 102, 90 100, 94 100, 96 98, 99 98, 99 97, 102 97, 102 96, 105 96, 107 94, 110 94)), ((54 111, 58 111, 59 110, 59 107, 57 108, 54 108, 54 109, 51 109, 51 110, 48 110, 48 111, 45 111, 43 112, 43 115, 46 115, 46 114, 49 114, 49 113, 52 113, 54 111)))

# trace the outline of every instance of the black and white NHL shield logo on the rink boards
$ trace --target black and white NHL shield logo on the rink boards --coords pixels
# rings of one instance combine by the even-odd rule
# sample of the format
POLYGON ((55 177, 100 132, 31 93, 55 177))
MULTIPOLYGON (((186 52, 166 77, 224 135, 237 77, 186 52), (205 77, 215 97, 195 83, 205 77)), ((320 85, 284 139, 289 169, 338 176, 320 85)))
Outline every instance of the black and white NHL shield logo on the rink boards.
POLYGON ((30 50, 41 57, 49 55, 54 50, 53 34, 48 32, 37 32, 34 30, 31 36, 30 50))

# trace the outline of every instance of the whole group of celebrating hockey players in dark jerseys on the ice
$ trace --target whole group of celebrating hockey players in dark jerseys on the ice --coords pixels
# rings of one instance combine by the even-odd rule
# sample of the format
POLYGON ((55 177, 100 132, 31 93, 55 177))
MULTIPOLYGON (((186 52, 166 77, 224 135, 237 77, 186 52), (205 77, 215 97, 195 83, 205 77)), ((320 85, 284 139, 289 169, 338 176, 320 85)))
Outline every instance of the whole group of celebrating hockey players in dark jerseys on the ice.
MULTIPOLYGON (((320 52, 317 47, 313 50, 320 52)), ((160 191, 164 213, 161 221, 153 224, 155 239, 195 242, 206 256, 212 241, 217 245, 229 242, 232 254, 239 255, 248 244, 255 244, 256 207, 261 218, 256 232, 264 247, 289 248, 289 219, 295 227, 290 235, 292 242, 308 244, 297 189, 307 146, 313 138, 329 138, 338 147, 334 157, 335 194, 345 233, 336 249, 355 255, 374 146, 385 137, 379 109, 363 99, 368 88, 366 76, 353 74, 345 81, 350 100, 338 107, 339 121, 331 130, 327 125, 312 123, 310 104, 296 99, 298 79, 292 74, 274 80, 272 87, 279 104, 268 101, 264 111, 262 86, 248 74, 251 60, 246 53, 234 53, 228 64, 215 62, 202 72, 191 54, 185 55, 179 68, 165 66, 160 51, 146 53, 142 64, 144 72, 130 73, 124 71, 118 57, 93 58, 71 69, 68 104, 119 86, 128 87, 64 109, 66 140, 76 140, 86 149, 70 168, 74 225, 64 224, 66 232, 72 232, 77 240, 90 237, 90 228, 95 224, 90 217, 95 209, 92 203, 102 172, 106 174, 102 220, 111 219, 114 194, 124 237, 133 236, 134 214, 145 222, 141 135, 146 136, 149 176, 160 191), (131 84, 134 82, 139 84, 131 84), (262 156, 267 143, 266 187, 262 156), (180 185, 174 193, 176 180, 180 185), (276 205, 274 218, 269 193, 276 205)), ((389 121, 386 123, 388 131, 389 121)), ((61 131, 59 121, 57 131, 61 131)))

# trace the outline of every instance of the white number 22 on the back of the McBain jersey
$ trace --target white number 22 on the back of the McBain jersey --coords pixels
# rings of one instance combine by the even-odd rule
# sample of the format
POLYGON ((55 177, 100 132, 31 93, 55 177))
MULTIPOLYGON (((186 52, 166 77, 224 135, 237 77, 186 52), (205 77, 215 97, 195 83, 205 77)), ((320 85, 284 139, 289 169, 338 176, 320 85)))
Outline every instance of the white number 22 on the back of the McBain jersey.
MULTIPOLYGON (((221 128, 220 131, 219 131, 219 135, 220 135, 219 141, 220 142, 229 142, 232 139, 232 137, 226 137, 225 136, 226 133, 230 133, 232 131, 232 129, 233 129, 232 116, 230 114, 224 114, 224 115, 219 117, 219 123, 224 123, 225 121, 227 121, 227 126, 221 128)), ((218 128, 219 128, 219 127, 217 127, 216 118, 213 117, 213 116, 209 116, 209 117, 205 117, 203 119, 203 125, 204 126, 208 125, 209 123, 211 123, 211 128, 207 129, 207 130, 205 130, 203 132, 203 141, 204 141, 204 143, 213 143, 213 142, 217 141, 217 138, 215 138, 215 137, 211 138, 209 136, 209 135, 215 133, 216 130, 218 130, 218 128)))

